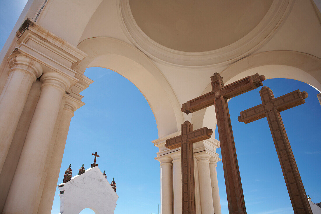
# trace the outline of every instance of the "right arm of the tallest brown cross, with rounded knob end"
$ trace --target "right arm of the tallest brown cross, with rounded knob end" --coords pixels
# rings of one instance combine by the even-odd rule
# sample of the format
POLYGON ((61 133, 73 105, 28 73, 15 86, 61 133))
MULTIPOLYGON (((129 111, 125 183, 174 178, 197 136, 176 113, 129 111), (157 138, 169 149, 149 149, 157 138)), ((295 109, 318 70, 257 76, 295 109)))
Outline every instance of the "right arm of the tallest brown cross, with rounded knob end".
POLYGON ((264 75, 260 76, 258 73, 256 73, 255 75, 247 76, 243 79, 240 79, 239 81, 222 87, 220 90, 220 94, 223 95, 225 99, 230 99, 232 97, 256 89, 259 86, 263 86, 262 81, 264 80, 264 75))

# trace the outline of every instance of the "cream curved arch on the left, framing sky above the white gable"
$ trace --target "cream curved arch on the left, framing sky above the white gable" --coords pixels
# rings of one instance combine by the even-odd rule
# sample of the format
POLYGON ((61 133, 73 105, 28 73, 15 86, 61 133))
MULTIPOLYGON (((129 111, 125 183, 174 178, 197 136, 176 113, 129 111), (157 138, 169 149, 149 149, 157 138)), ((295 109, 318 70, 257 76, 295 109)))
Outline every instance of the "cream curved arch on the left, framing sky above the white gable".
POLYGON ((141 51, 108 37, 83 40, 78 48, 88 54, 79 69, 104 67, 131 81, 144 95, 155 116, 159 137, 180 129, 184 122, 178 99, 160 70, 141 51))

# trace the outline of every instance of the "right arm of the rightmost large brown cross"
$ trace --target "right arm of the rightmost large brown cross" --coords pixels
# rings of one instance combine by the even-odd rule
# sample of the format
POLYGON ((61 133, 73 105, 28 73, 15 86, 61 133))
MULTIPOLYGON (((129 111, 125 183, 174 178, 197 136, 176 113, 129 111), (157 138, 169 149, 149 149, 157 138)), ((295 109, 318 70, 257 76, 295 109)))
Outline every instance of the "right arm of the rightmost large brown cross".
POLYGON ((280 111, 284 111, 290 109, 292 107, 301 105, 305 103, 305 98, 308 97, 308 93, 300 90, 292 91, 288 94, 284 94, 281 97, 274 98, 272 100, 274 109, 280 111))

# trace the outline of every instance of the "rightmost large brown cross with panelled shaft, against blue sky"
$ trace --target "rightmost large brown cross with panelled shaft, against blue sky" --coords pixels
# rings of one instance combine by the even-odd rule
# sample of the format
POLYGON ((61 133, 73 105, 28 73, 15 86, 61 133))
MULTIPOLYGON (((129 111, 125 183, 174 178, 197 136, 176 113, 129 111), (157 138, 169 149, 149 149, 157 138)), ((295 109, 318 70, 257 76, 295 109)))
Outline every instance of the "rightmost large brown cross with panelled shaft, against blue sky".
POLYGON ((240 112, 238 120, 249 123, 266 117, 275 149, 279 157, 286 187, 288 188, 295 214, 312 214, 307 194, 295 162, 288 136, 286 135, 280 111, 305 103, 308 93, 299 90, 274 98, 270 88, 264 86, 260 91, 262 104, 240 112))

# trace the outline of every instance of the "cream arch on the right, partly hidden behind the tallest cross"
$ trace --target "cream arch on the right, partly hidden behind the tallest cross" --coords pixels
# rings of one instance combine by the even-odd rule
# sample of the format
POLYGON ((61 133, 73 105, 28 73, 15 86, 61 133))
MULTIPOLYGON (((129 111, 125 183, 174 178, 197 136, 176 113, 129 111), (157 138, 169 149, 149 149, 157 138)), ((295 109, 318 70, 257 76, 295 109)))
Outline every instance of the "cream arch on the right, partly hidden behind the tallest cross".
MULTIPOLYGON (((221 76, 225 85, 227 85, 238 79, 259 73, 260 75, 265 75, 266 79, 286 78, 299 80, 311 85, 320 92, 320 72, 320 58, 297 51, 277 50, 257 53, 243 58, 223 70, 221 76)), ((206 94, 211 90, 212 87, 209 84, 202 94, 206 94)), ((213 115, 215 115, 213 106, 196 111, 193 113, 192 123, 196 124, 195 128, 207 126, 215 129, 216 118, 215 123, 213 123, 213 115), (204 119, 205 114, 207 119, 204 119), (211 119, 208 119, 208 116, 211 119)))

